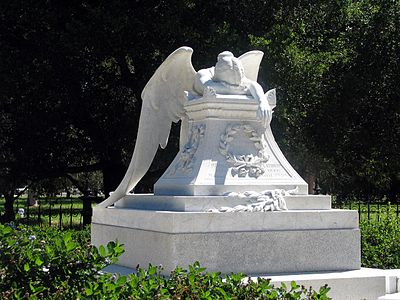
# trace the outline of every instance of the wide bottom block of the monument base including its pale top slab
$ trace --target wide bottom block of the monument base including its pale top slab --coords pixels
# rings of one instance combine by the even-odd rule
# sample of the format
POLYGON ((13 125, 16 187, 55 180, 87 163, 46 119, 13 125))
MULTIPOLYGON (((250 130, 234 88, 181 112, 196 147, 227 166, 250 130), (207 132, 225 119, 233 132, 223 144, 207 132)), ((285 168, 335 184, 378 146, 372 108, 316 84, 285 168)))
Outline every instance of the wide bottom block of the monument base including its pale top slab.
POLYGON ((169 274, 176 266, 199 261, 212 272, 252 275, 361 266, 356 211, 213 213, 119 205, 94 209, 92 243, 118 239, 125 245, 121 266, 145 268, 151 263, 169 274))

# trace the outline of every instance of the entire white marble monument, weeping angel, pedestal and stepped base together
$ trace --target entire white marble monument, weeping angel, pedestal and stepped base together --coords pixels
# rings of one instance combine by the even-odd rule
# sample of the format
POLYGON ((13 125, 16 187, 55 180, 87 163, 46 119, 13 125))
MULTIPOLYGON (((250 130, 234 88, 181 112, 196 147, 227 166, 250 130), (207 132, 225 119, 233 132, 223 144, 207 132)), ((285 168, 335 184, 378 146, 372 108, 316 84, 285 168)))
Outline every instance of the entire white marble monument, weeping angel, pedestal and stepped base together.
POLYGON ((174 51, 144 88, 131 163, 94 209, 92 242, 118 239, 121 266, 161 264, 166 274, 195 261, 222 273, 359 269, 357 212, 307 195, 274 140, 275 90, 257 83, 263 53, 225 51, 196 72, 192 52, 174 51), (179 153, 154 194, 133 194, 179 120, 179 153))

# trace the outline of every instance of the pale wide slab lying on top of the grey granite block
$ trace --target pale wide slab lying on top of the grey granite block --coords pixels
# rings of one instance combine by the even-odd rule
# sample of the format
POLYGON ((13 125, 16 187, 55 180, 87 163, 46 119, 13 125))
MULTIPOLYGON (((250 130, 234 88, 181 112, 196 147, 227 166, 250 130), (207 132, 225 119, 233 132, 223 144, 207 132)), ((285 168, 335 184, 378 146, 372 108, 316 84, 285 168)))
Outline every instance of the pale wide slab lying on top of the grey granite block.
POLYGON ((358 214, 357 211, 335 209, 212 213, 96 207, 92 223, 164 233, 358 230, 358 214))

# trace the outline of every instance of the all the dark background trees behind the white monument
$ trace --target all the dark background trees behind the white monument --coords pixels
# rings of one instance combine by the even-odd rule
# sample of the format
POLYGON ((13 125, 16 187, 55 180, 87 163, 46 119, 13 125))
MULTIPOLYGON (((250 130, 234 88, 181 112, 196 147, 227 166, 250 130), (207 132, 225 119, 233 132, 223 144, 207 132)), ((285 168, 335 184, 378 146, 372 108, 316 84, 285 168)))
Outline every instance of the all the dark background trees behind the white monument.
MULTIPOLYGON (((113 190, 145 83, 188 45, 196 69, 226 49, 265 52, 261 83, 278 88, 275 135, 309 182, 395 194, 398 11, 399 1, 382 0, 2 1, 0 193, 12 203, 16 187, 94 170, 113 190)), ((176 136, 138 190, 169 164, 176 136)))

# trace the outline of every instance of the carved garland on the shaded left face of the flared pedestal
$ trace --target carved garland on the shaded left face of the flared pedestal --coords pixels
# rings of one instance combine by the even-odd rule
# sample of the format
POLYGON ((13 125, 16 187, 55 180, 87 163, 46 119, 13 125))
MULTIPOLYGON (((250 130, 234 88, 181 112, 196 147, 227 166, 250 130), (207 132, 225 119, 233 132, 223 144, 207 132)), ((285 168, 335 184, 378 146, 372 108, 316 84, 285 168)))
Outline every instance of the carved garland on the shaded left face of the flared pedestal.
POLYGON ((192 171, 192 165, 194 162, 194 154, 199 147, 200 140, 203 138, 206 130, 205 124, 193 125, 190 130, 190 136, 188 142, 182 149, 178 163, 175 168, 171 169, 170 175, 174 175, 176 172, 189 173, 192 171))

